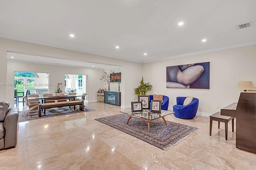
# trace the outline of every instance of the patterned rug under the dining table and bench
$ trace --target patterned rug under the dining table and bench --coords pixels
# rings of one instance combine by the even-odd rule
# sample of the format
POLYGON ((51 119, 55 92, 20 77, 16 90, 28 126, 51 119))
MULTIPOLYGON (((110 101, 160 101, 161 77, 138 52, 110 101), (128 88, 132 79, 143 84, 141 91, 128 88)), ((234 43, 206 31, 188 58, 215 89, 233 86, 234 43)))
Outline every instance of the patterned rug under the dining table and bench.
POLYGON ((38 117, 38 112, 32 113, 32 115, 26 115, 26 111, 20 111, 19 121, 25 122, 25 121, 31 121, 34 119, 42 119, 42 118, 47 118, 47 117, 70 115, 70 114, 74 114, 74 113, 90 112, 90 111, 96 111, 96 110, 92 109, 90 107, 84 106, 84 111, 80 111, 79 107, 76 107, 76 110, 74 110, 74 107, 69 108, 67 106, 67 107, 62 107, 62 108, 47 109, 45 115, 44 115, 44 113, 42 113, 42 117, 38 117))

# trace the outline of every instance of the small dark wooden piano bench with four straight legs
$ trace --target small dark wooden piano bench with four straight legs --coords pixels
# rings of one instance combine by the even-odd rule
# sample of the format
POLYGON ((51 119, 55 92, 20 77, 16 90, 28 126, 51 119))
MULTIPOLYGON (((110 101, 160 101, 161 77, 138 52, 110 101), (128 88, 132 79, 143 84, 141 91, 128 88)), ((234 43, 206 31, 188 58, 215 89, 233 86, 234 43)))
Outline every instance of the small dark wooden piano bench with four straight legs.
POLYGON ((232 121, 232 132, 234 132, 234 117, 222 116, 220 112, 210 115, 210 136, 212 136, 212 121, 218 121, 218 128, 220 128, 220 122, 225 123, 225 136, 228 140, 228 123, 232 121))

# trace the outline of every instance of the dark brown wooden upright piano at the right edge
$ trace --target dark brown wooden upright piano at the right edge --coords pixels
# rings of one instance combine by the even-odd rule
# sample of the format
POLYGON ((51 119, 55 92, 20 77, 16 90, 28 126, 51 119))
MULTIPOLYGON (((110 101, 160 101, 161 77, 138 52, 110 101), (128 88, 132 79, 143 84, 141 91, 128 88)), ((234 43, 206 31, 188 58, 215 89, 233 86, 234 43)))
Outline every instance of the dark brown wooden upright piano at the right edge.
POLYGON ((220 115, 236 117, 236 148, 256 153, 256 93, 240 93, 238 103, 220 109, 220 115))

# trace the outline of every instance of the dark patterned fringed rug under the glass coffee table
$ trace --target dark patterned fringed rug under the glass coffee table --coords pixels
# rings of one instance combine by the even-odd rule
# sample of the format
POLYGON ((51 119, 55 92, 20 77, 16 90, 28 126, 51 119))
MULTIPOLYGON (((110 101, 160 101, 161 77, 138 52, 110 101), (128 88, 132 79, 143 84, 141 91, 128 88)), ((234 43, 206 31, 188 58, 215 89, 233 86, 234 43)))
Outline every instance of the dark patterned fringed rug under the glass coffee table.
POLYGON ((128 117, 128 115, 122 113, 95 120, 121 130, 163 150, 170 148, 198 129, 196 127, 171 121, 166 121, 167 125, 165 125, 163 120, 158 119, 152 121, 150 124, 150 132, 148 132, 147 122, 139 119, 130 119, 129 124, 126 125, 128 117))

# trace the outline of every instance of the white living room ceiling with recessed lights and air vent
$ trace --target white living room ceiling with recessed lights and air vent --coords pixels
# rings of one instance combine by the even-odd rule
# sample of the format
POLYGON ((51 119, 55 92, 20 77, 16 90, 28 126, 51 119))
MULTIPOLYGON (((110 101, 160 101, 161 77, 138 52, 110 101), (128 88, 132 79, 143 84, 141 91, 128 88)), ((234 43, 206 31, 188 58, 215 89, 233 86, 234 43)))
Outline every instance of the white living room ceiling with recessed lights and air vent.
POLYGON ((256 0, 0 0, 0 37, 147 62, 255 44, 255 9, 256 0))

